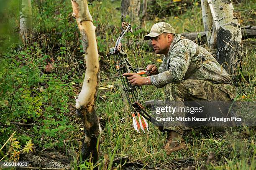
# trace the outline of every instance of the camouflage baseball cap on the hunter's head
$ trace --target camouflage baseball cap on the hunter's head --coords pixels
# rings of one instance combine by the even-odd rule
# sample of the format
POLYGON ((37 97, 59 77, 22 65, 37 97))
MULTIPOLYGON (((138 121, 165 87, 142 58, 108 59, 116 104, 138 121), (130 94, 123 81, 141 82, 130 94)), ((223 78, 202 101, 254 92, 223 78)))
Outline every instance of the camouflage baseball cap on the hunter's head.
POLYGON ((158 35, 161 35, 164 32, 175 34, 175 30, 172 27, 172 25, 168 23, 156 23, 151 28, 150 33, 144 36, 144 40, 149 40, 151 39, 151 37, 157 37, 158 35))

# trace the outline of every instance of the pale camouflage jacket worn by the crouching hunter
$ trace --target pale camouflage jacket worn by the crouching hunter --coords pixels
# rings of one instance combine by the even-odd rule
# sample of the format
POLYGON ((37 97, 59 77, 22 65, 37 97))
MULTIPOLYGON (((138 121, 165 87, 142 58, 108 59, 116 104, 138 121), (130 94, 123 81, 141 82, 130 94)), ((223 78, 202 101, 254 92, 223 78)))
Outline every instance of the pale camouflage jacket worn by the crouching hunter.
POLYGON ((180 34, 174 36, 168 54, 159 67, 159 74, 150 76, 150 79, 158 88, 186 79, 232 84, 228 73, 210 52, 180 34))

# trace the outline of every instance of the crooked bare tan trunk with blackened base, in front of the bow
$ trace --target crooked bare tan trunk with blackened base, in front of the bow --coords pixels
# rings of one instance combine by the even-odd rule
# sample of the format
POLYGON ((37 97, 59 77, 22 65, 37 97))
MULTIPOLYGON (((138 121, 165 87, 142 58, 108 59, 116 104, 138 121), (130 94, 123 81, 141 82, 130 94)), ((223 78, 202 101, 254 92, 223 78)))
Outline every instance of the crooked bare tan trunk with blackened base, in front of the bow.
POLYGON ((99 155, 100 124, 94 110, 95 97, 97 95, 97 83, 99 80, 99 55, 95 36, 96 27, 92 23, 87 0, 72 0, 73 16, 79 27, 86 72, 82 90, 76 99, 77 114, 81 117, 84 125, 85 138, 82 146, 83 160, 90 159, 94 163, 99 155), (92 160, 93 158, 93 160, 92 160))

